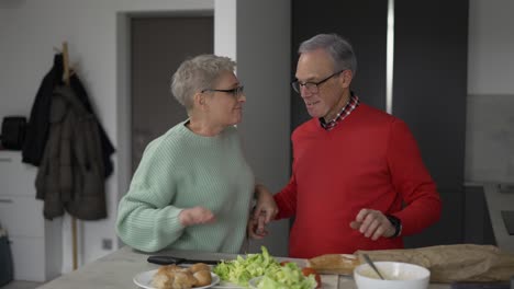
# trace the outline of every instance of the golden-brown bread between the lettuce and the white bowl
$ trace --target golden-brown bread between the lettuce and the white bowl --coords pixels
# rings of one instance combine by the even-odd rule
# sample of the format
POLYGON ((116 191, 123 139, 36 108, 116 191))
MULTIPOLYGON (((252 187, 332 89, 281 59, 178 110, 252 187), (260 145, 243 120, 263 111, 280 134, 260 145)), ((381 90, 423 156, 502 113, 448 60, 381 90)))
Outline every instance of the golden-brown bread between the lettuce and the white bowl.
POLYGON ((351 275, 358 265, 359 259, 351 254, 326 254, 308 259, 308 267, 321 274, 351 275))

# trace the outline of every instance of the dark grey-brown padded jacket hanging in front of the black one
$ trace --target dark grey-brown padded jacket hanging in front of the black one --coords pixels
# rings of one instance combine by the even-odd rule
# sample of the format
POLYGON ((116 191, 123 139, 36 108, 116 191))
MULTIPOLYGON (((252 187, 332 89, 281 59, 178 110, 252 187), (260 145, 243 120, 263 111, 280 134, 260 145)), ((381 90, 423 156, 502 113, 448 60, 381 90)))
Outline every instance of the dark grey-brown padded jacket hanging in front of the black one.
POLYGON ((107 217, 100 132, 69 86, 55 89, 48 141, 36 176, 36 197, 46 219, 69 215, 82 220, 107 217))

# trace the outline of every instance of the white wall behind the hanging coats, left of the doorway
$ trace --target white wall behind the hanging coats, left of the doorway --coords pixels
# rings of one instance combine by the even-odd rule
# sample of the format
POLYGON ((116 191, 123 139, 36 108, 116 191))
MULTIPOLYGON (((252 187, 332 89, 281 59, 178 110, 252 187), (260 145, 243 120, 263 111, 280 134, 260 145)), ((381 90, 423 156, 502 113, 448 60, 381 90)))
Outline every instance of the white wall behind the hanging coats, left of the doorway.
MULTIPOLYGON (((113 157, 114 174, 107 182, 109 218, 101 221, 79 222, 79 265, 96 259, 110 251, 101 248, 103 238, 116 240, 114 221, 120 192, 126 175, 120 175, 120 154, 126 142, 119 140, 116 86, 116 42, 120 13, 172 12, 213 10, 213 1, 205 0, 25 0, 0 1, 0 117, 20 114, 29 116, 43 76, 53 63, 54 47, 67 41, 71 63, 89 92, 91 102, 107 134, 119 152, 113 157)), ((126 68, 126 67, 125 67, 126 68)), ((121 73, 120 73, 121 74, 121 73)), ((126 90, 124 91, 126 92, 126 90)), ((126 153, 125 153, 126 155, 126 153)), ((126 170, 124 170, 126 171, 126 170)), ((63 270, 71 268, 69 222, 64 223, 65 241, 63 270)), ((114 246, 115 246, 114 242, 114 246)))

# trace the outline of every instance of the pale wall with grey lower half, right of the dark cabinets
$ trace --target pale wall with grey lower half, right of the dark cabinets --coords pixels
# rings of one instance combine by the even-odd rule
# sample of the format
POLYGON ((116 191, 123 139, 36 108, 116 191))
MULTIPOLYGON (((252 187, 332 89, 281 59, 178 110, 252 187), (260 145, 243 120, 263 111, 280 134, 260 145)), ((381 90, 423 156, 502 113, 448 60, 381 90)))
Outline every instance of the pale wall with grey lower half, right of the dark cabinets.
POLYGON ((514 183, 514 1, 470 0, 468 182, 514 183))

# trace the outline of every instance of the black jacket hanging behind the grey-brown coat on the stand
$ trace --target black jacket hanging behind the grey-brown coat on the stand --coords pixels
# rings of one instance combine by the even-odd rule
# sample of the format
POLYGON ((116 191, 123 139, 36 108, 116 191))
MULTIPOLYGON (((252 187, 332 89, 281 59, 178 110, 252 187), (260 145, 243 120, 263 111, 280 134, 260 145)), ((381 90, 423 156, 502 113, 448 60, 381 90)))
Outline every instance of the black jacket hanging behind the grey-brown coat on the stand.
MULTIPOLYGON (((87 112, 94 114, 89 102, 88 94, 80 82, 77 74, 71 74, 70 86, 78 100, 82 103, 87 112)), ((23 143, 23 162, 40 166, 43 159, 43 152, 45 144, 48 139, 48 127, 49 127, 49 111, 52 104, 52 94, 54 89, 63 84, 63 55, 57 54, 54 57, 54 66, 48 73, 43 78, 43 81, 37 90, 34 104, 31 109, 31 117, 29 120, 29 127, 25 135, 25 141, 23 143)), ((111 154, 114 153, 114 147, 112 146, 109 137, 99 124, 100 141, 102 146, 102 161, 104 170, 104 176, 108 177, 113 171, 113 164, 111 161, 111 154)))

